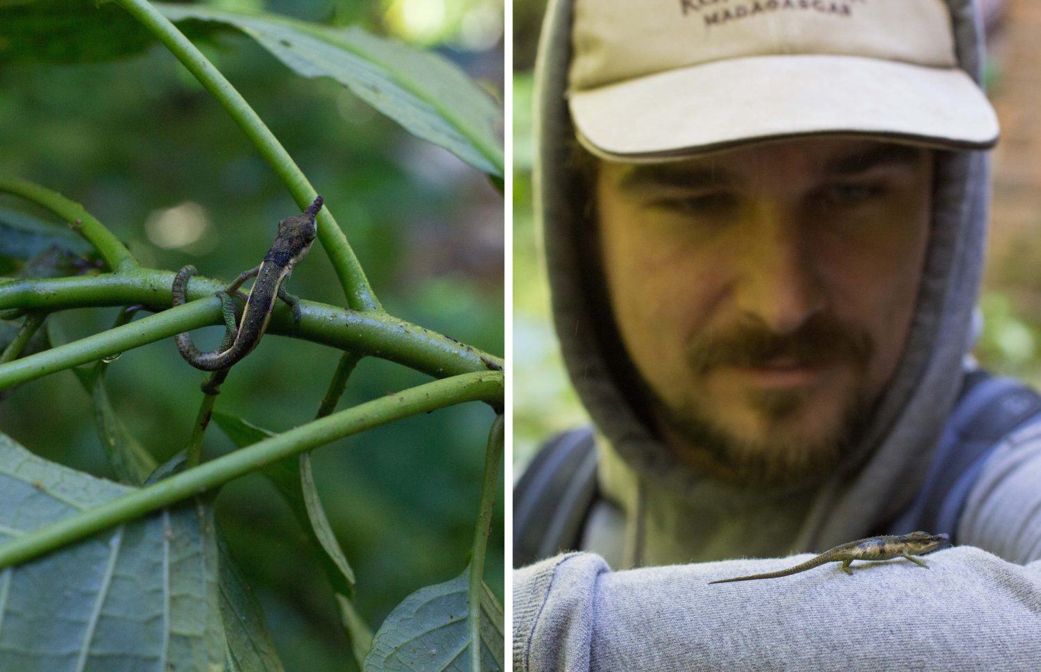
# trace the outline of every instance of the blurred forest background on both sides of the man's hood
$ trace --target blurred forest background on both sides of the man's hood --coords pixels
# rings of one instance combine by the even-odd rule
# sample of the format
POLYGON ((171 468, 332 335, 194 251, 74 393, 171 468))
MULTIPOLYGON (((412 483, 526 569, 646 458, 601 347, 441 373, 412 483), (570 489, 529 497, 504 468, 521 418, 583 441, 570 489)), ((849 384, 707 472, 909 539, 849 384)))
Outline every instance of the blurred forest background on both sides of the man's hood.
MULTIPOLYGON (((987 86, 1001 123, 984 330, 975 355, 992 371, 1041 387, 1041 3, 981 0, 987 86)), ((514 477, 553 433, 587 423, 570 389, 553 326, 540 231, 531 206, 532 69, 545 0, 513 5, 513 463, 514 477)))

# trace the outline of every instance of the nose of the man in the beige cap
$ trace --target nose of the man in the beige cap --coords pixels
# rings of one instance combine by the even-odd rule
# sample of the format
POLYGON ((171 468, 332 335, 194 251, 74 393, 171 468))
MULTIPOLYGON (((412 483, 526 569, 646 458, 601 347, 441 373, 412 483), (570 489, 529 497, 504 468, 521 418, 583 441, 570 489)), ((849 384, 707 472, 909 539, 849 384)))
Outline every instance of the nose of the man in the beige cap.
POLYGON ((756 208, 737 281, 738 307, 777 333, 790 333, 826 306, 812 231, 793 208, 756 208))

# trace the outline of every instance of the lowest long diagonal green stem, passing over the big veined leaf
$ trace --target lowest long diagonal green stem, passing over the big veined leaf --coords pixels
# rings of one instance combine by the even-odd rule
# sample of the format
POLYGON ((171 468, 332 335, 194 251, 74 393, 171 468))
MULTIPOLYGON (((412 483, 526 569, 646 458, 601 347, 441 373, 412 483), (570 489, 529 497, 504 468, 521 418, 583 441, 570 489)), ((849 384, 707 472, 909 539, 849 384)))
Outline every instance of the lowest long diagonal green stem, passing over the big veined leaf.
POLYGON ((503 393, 503 374, 487 371, 435 380, 340 410, 4 542, 0 544, 0 569, 25 563, 337 439, 457 403, 501 401, 503 393))

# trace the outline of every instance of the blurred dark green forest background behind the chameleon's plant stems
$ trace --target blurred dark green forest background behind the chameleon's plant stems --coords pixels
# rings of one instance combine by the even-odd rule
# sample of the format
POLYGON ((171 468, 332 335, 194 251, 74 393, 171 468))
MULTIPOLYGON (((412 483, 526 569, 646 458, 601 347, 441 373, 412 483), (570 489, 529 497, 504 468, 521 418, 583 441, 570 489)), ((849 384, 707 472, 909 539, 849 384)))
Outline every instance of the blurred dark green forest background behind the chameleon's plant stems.
MULTIPOLYGON (((434 49, 497 100, 503 91, 502 0, 230 0, 434 49)), ((251 40, 222 34, 200 45, 325 196, 391 314, 492 353, 503 352, 503 197, 486 176, 414 139, 345 88, 304 79, 251 40)), ((253 146, 159 46, 97 65, 0 69, 0 173, 82 203, 145 265, 185 264, 230 280, 266 251, 275 225, 299 211, 253 146)), ((25 208, 0 197, 0 208, 25 208)), ((53 218, 52 218, 53 220, 53 218)), ((64 226, 62 222, 55 222, 64 226)), ((3 273, 8 269, 3 269, 3 273)), ((289 290, 342 305, 335 275, 315 249, 289 290)), ((68 339, 111 326, 117 309, 65 312, 68 339)), ((196 334, 209 349, 223 328, 196 334)), ((339 352, 269 338, 235 367, 217 403, 281 431, 313 418, 339 352)), ((173 341, 109 365, 113 405, 157 459, 183 447, 204 374, 173 341)), ((339 408, 429 380, 375 358, 353 374, 339 408)), ((332 526, 357 573, 357 605, 375 629, 421 587, 465 567, 493 414, 485 405, 438 410, 337 442, 313 453, 332 526)), ((112 477, 90 398, 71 372, 15 390, 0 430, 30 450, 112 477)), ((218 427, 210 455, 232 450, 218 427)), ((485 580, 503 598, 502 494, 485 580)), ((288 670, 342 670, 346 639, 328 583, 304 536, 262 477, 229 483, 218 520, 255 589, 288 670)))

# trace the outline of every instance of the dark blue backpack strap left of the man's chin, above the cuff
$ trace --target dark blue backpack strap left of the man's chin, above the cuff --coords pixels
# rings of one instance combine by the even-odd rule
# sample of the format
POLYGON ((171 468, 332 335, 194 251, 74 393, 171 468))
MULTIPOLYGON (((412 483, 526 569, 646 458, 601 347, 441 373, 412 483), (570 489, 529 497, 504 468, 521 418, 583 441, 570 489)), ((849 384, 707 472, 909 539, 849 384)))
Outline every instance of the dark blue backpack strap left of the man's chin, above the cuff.
POLYGON ((513 566, 577 549, 596 499, 592 427, 550 439, 513 488, 513 566))

